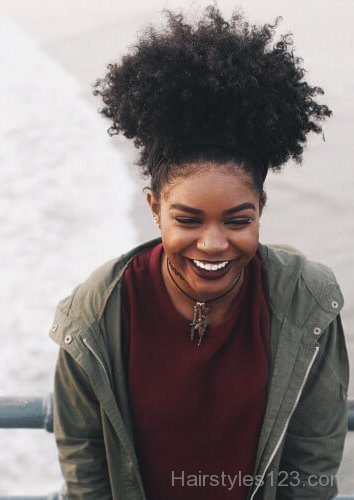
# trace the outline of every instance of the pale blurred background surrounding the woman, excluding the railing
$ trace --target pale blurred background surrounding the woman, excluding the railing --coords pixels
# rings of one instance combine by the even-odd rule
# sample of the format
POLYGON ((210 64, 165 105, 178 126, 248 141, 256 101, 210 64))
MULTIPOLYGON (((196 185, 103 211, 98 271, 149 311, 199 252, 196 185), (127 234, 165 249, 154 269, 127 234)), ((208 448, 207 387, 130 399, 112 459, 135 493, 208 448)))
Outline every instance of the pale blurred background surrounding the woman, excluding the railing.
MULTIPOLYGON (((56 303, 97 266, 157 236, 124 138, 110 138, 92 84, 163 8, 198 15, 208 1, 0 0, 0 394, 52 391, 56 303)), ((263 243, 286 243, 335 271, 354 341, 353 0, 219 0, 251 22, 283 16, 306 78, 333 110, 325 141, 301 167, 266 182, 263 243)), ((354 397, 353 386, 350 397, 354 397)), ((48 494, 62 483, 52 435, 0 430, 0 494, 48 494)), ((339 481, 354 493, 348 437, 339 481)))

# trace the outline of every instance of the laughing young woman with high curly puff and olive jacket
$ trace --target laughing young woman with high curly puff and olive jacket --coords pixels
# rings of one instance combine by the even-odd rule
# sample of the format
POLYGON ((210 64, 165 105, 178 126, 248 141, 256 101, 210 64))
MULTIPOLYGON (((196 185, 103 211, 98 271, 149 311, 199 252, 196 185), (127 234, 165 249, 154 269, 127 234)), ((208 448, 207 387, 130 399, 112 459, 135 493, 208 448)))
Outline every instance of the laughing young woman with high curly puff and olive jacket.
MULTIPOLYGON (((333 273, 259 243, 268 169, 328 117, 275 25, 168 13, 97 82, 161 231, 58 306, 69 498, 328 499, 348 360, 333 273)), ((119 229, 118 229, 119 230, 119 229)))

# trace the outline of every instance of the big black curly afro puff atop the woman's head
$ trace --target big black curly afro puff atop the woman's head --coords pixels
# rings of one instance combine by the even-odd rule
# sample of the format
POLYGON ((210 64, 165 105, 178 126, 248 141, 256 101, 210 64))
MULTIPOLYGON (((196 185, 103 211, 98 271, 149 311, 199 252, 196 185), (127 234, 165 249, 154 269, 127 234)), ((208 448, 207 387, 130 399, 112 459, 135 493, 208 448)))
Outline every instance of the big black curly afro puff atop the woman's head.
POLYGON ((256 26, 234 12, 227 22, 208 6, 191 25, 165 13, 167 26, 148 27, 94 91, 113 121, 109 133, 140 149, 143 173, 156 175, 157 152, 172 164, 193 144, 234 148, 266 170, 301 162, 307 133, 321 132, 331 111, 314 99, 323 90, 303 80, 291 36, 273 42, 279 18, 256 26))

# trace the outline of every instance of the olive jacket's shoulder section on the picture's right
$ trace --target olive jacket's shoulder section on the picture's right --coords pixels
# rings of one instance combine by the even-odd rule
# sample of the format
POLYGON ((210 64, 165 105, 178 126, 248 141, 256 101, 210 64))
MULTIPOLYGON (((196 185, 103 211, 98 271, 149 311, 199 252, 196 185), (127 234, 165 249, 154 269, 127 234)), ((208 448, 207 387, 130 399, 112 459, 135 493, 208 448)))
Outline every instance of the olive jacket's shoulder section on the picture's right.
POLYGON ((277 308, 315 306, 338 313, 343 295, 328 266, 286 245, 259 245, 269 301, 277 308))

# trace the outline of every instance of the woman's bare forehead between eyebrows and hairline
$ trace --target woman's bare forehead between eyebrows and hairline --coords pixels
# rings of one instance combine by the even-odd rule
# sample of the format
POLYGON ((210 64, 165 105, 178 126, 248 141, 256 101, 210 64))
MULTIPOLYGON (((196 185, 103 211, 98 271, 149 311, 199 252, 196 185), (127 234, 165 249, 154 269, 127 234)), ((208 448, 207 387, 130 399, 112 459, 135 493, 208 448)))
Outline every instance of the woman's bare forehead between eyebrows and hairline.
MULTIPOLYGON (((251 177, 236 165, 195 165, 162 189, 165 203, 222 205, 257 199, 251 177)), ((200 207, 197 207, 200 208, 200 207)))

